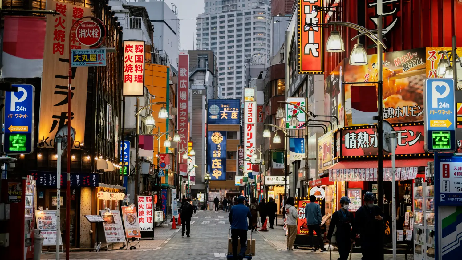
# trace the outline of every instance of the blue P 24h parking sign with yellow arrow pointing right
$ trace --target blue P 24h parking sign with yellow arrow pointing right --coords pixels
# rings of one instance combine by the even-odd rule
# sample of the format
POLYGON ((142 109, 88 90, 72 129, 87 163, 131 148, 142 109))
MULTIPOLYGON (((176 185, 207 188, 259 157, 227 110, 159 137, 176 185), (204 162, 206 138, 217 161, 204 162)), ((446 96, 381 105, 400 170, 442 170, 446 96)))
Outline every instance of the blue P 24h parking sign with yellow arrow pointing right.
POLYGON ((424 92, 425 143, 428 151, 456 151, 454 79, 428 78, 424 92))

